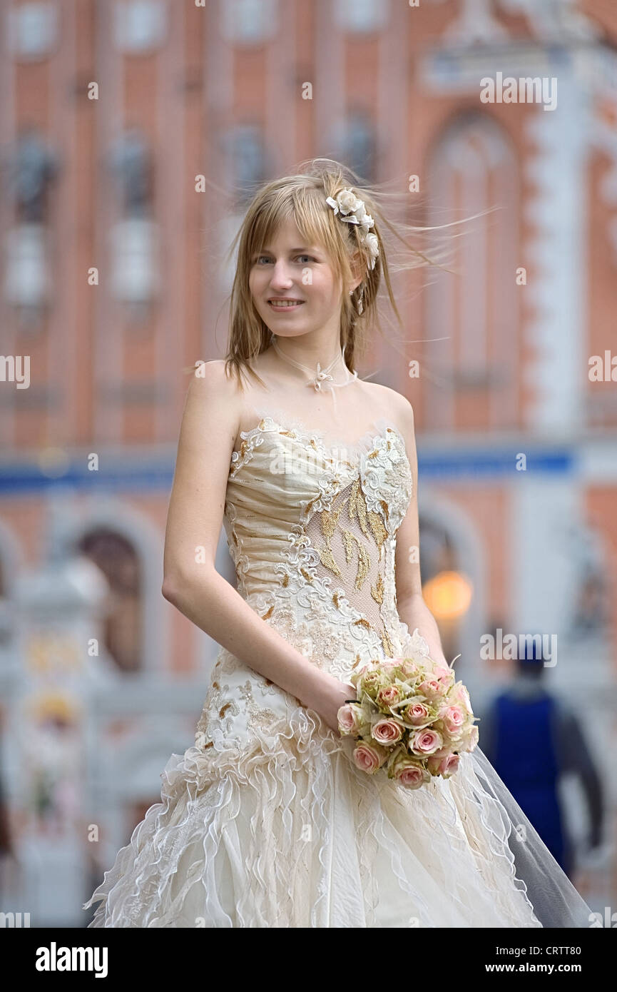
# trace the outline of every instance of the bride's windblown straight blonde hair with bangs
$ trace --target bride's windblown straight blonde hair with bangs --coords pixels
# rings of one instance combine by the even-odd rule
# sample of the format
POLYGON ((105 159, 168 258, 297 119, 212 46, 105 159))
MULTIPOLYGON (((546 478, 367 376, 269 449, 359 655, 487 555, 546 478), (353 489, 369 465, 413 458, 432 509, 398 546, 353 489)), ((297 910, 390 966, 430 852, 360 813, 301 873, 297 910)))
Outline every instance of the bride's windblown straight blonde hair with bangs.
MULTIPOLYGON (((436 258, 429 258, 409 244, 410 234, 436 230, 417 227, 401 220, 391 221, 383 207, 389 200, 401 199, 401 193, 388 193, 379 187, 363 186, 351 170, 332 159, 309 159, 298 167, 292 176, 284 176, 259 187, 246 211, 240 229, 228 252, 229 262, 238 247, 236 271, 230 294, 229 337, 225 355, 225 372, 235 374, 240 388, 242 375, 252 376, 263 385, 250 362, 265 351, 271 343, 272 332, 256 310, 249 289, 252 259, 275 236, 279 226, 292 219, 308 244, 319 245, 328 257, 335 279, 344 288, 354 279, 354 264, 359 262, 363 278, 353 295, 341 291, 340 346, 344 346, 345 364, 354 372, 354 363, 361 358, 373 329, 382 333, 377 307, 383 281, 387 296, 402 326, 390 279, 386 232, 405 245, 405 251, 395 264, 396 271, 416 269, 420 266, 442 268, 436 258), (327 196, 336 197, 344 188, 352 188, 364 201, 367 213, 374 221, 371 233, 379 243, 379 256, 374 269, 370 268, 368 251, 360 240, 355 224, 342 223, 325 202, 327 196), (362 293, 363 291, 363 293, 362 293), (358 299, 362 293, 363 312, 358 314, 358 299)), ((403 211, 409 208, 409 193, 404 193, 403 211)), ((447 227, 449 225, 440 225, 447 227)), ((449 270, 448 270, 449 271, 449 270)), ((358 275, 356 269, 356 278, 358 275)), ((193 371, 191 368, 190 371, 193 371)))

